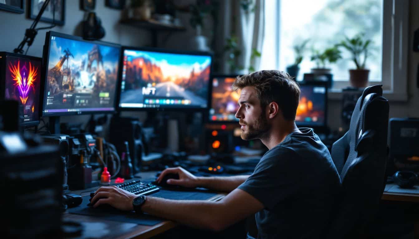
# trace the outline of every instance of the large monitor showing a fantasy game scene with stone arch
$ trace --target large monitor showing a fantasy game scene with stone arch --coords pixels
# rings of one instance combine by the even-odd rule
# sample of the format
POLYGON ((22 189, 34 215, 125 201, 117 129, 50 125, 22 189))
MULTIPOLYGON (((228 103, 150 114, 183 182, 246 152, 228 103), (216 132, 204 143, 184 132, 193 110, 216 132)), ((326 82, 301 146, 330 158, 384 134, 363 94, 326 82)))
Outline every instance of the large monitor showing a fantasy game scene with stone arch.
POLYGON ((43 116, 112 113, 121 46, 49 31, 44 45, 43 116))

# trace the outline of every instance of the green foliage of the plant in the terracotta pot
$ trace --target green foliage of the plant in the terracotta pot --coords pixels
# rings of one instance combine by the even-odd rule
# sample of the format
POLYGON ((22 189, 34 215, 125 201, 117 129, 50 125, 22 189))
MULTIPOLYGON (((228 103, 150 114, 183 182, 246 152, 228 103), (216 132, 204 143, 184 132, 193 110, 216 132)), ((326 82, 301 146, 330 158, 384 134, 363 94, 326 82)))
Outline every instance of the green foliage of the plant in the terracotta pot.
POLYGON ((345 40, 337 45, 344 47, 352 54, 352 60, 357 66, 357 69, 365 69, 365 62, 369 55, 368 50, 371 46, 371 40, 365 40, 364 37, 364 33, 358 33, 353 38, 345 36, 345 40))

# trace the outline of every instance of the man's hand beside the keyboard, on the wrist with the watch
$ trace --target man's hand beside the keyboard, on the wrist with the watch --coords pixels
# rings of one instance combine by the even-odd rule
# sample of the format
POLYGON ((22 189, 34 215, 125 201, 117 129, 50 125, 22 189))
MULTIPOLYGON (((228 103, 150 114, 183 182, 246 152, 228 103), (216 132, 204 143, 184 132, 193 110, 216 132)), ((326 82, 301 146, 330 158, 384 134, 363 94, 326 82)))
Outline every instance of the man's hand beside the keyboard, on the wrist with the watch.
POLYGON ((136 197, 137 195, 134 193, 130 193, 116 186, 110 186, 101 187, 96 190, 96 194, 93 196, 91 202, 96 202, 93 205, 94 208, 102 204, 109 204, 122 211, 132 211, 134 210, 132 200, 136 197))

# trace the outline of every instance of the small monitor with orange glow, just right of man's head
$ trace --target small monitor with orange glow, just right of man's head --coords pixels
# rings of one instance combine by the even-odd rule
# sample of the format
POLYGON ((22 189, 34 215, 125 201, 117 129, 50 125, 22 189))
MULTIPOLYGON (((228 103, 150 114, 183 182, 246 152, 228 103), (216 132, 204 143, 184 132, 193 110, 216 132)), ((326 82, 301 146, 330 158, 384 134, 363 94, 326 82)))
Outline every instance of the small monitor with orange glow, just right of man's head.
POLYGON ((298 127, 327 126, 327 85, 323 82, 300 83, 300 103, 295 123, 298 127))

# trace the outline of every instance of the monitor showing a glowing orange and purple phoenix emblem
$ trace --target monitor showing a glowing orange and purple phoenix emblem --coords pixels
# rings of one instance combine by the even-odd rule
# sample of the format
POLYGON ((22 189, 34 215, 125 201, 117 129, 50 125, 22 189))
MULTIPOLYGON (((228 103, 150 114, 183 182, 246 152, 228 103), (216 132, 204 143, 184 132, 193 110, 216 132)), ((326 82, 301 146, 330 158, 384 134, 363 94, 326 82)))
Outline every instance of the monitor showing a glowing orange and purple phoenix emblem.
POLYGON ((0 52, 0 100, 19 102, 22 126, 39 124, 41 62, 39 57, 0 52))

